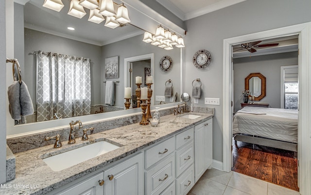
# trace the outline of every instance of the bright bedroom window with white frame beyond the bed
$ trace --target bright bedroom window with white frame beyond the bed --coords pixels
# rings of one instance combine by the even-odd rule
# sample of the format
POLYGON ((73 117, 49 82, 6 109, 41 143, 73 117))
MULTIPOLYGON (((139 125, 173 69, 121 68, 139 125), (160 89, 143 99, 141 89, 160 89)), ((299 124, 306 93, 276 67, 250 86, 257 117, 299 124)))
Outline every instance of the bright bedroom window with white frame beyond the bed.
POLYGON ((298 109, 298 65, 281 66, 281 108, 298 109))

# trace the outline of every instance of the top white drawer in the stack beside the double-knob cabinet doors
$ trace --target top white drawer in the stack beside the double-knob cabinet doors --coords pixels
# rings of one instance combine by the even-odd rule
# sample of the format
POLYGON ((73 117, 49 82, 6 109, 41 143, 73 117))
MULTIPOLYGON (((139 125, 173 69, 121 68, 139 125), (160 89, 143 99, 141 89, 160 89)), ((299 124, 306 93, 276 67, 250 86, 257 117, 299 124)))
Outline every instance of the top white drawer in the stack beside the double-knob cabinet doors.
POLYGON ((172 137, 158 145, 146 150, 145 152, 145 168, 149 168, 159 160, 165 158, 175 150, 175 137, 172 137))

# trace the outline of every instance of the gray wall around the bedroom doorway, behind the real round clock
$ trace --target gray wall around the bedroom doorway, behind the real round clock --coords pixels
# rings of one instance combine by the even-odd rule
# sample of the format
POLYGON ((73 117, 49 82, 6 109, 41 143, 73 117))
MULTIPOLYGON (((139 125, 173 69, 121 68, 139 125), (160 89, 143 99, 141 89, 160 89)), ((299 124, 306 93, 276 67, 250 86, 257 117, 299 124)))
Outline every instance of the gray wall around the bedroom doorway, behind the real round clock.
MULTIPOLYGON (((202 81, 202 98, 220 98, 213 118, 213 159, 223 162, 223 43, 224 39, 311 21, 311 0, 247 0, 230 7, 187 20, 185 38, 184 90, 191 92, 196 77, 202 81), (207 49, 210 65, 202 70, 192 63, 193 55, 207 49)), ((191 93, 190 93, 191 94, 191 93)))

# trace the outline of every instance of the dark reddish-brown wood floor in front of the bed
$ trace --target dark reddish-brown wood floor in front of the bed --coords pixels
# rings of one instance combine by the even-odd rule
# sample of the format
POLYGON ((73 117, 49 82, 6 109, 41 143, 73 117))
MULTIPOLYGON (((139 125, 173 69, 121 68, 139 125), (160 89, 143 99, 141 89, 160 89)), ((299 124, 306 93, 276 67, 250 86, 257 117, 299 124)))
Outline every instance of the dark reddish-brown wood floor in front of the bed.
POLYGON ((233 141, 232 171, 299 191, 292 151, 233 141))

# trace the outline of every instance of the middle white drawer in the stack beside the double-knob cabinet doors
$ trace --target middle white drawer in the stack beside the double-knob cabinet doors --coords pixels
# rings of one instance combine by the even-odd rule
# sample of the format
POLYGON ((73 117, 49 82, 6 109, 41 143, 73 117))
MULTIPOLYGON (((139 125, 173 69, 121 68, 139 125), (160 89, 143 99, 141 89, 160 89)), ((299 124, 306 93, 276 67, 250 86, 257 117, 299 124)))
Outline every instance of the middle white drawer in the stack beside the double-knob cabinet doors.
POLYGON ((175 180, 175 153, 145 172, 146 195, 158 195, 175 180))

